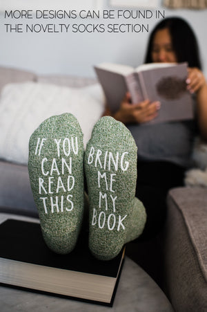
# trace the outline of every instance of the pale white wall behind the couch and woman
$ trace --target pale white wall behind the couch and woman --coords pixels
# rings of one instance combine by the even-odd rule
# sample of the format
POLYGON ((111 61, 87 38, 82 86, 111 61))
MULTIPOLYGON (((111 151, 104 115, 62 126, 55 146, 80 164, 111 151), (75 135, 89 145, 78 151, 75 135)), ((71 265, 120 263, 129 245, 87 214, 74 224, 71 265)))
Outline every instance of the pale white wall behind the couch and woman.
MULTIPOLYGON (((103 8, 111 8, 103 0, 103 8)), ((138 8, 139 9, 139 8, 138 8)), ((184 17, 193 26, 199 46, 204 73, 207 76, 207 10, 166 10, 160 5, 157 10, 165 10, 165 17, 177 15, 184 17)), ((140 9, 142 10, 142 9, 140 9)), ((155 12, 155 11, 153 11, 155 12)), ((8 19, 0 16, 0 65, 15 66, 36 73, 64 73, 72 75, 94 76, 92 65, 99 62, 118 62, 137 66, 143 62, 148 33, 6 33, 8 19)), ((125 23, 149 24, 150 30, 157 19, 125 20, 125 23)), ((11 20, 13 24, 26 24, 28 20, 11 20)), ((41 23, 43 21, 41 20, 41 23)), ((83 23, 84 20, 57 21, 59 23, 83 23)), ((32 19, 32 23, 40 23, 32 19)), ((54 23, 54 20, 44 21, 54 23)), ((121 20, 87 19, 85 23, 107 24, 121 23, 121 20)), ((25 25, 24 25, 25 26, 25 25)))

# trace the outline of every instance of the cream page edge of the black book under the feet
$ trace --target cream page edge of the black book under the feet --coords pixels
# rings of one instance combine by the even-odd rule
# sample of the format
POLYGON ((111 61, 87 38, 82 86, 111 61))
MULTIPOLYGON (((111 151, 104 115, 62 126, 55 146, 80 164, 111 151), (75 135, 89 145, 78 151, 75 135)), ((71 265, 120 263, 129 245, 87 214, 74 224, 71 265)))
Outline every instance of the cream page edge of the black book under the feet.
MULTIPOLYGON (((98 302, 110 302, 117 277, 119 276, 118 274, 117 277, 106 277, 90 273, 44 267, 37 264, 26 264, 16 260, 4 260, 6 261, 0 258, 2 272, 0 275, 0 282, 2 284, 54 293, 57 295, 66 295, 67 297, 81 297, 82 299, 98 302), (10 271, 12 271, 12 275, 3 273, 8 271, 8 266, 10 271), (44 273, 43 270, 45 271, 44 273), (19 271, 19 276, 16 273, 17 271, 19 271), (68 283, 68 281, 70 282, 68 283), (92 289, 93 287, 95 290, 92 289), (88 291, 90 291, 90 294, 86 294, 88 291)), ((120 263, 120 267, 122 262, 123 260, 120 263)))

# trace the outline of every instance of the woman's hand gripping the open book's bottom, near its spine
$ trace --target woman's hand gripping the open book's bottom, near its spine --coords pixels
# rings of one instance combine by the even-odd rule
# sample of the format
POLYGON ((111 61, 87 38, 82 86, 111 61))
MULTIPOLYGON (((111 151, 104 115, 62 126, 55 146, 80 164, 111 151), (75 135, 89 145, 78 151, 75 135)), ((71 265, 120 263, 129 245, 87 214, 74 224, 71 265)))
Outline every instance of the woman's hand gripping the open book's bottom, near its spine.
POLYGON ((124 100, 121 102, 119 111, 113 117, 124 124, 148 122, 157 116, 160 108, 160 102, 143 102, 132 104, 130 102, 130 93, 126 93, 124 100))

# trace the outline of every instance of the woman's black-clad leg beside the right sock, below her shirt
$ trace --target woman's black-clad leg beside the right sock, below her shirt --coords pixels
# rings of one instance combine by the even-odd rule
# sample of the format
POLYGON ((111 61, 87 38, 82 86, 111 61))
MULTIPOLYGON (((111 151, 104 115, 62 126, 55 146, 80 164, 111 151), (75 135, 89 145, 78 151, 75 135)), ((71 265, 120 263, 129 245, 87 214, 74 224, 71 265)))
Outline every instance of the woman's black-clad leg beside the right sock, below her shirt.
POLYGON ((164 225, 166 196, 172 187, 183 185, 185 169, 163 161, 137 163, 136 196, 144 203, 146 226, 141 239, 155 237, 164 225))

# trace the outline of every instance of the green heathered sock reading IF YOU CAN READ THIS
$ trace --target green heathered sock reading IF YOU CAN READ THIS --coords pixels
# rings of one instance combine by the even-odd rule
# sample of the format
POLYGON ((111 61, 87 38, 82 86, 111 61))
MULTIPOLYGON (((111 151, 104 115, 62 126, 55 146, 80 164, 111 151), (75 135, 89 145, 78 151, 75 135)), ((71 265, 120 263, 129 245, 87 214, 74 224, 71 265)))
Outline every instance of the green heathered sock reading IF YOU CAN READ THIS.
POLYGON ((43 121, 30 137, 28 171, 47 246, 75 247, 83 217, 83 134, 75 116, 43 121))

